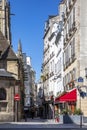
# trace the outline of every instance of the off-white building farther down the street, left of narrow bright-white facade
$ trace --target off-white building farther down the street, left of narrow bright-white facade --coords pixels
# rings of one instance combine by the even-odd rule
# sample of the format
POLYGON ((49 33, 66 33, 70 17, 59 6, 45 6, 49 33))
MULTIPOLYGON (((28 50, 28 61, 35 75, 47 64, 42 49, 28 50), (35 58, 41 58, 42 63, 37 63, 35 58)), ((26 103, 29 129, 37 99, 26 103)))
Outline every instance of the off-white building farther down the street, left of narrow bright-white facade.
POLYGON ((55 90, 55 63, 57 46, 55 44, 57 30, 58 30, 58 16, 50 16, 46 22, 46 32, 44 35, 44 63, 43 75, 45 76, 44 87, 48 100, 54 95, 55 90))

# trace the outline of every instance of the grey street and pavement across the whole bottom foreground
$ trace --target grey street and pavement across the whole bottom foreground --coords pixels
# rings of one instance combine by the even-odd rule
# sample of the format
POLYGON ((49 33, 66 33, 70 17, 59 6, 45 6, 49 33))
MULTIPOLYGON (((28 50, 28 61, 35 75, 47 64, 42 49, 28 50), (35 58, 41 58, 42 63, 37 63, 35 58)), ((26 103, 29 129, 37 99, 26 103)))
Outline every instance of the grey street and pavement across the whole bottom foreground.
POLYGON ((21 122, 0 122, 0 128, 5 129, 5 128, 12 128, 12 129, 16 129, 17 128, 22 128, 22 129, 30 129, 30 130, 37 130, 38 128, 43 130, 45 128, 45 130, 47 129, 64 129, 64 130, 86 130, 87 129, 87 124, 83 125, 82 128, 80 128, 79 125, 76 124, 61 124, 58 122, 55 122, 54 120, 47 120, 47 119, 40 119, 40 118, 28 118, 27 122, 25 122, 25 120, 22 120, 21 122))

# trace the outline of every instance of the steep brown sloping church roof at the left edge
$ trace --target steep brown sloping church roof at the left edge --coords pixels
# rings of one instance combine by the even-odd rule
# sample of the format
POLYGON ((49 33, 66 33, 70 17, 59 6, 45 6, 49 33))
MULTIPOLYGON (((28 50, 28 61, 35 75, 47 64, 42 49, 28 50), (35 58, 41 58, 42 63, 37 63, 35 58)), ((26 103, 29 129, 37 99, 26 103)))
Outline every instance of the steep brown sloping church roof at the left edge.
POLYGON ((8 43, 7 39, 3 36, 1 31, 0 31, 0 59, 18 60, 11 45, 8 43))

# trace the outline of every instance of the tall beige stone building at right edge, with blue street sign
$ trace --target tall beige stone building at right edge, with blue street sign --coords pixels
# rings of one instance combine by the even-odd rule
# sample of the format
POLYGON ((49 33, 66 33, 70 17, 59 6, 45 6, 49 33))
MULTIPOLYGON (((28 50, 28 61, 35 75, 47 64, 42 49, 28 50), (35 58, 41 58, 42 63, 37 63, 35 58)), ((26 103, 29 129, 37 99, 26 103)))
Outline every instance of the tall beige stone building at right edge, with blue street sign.
MULTIPOLYGON (((80 108, 87 116, 87 1, 63 0, 64 4, 64 89, 69 110, 80 108), (74 94, 73 94, 74 92, 74 94), (76 95, 76 96, 75 96, 76 95)), ((65 99, 66 100, 66 99, 65 99)))

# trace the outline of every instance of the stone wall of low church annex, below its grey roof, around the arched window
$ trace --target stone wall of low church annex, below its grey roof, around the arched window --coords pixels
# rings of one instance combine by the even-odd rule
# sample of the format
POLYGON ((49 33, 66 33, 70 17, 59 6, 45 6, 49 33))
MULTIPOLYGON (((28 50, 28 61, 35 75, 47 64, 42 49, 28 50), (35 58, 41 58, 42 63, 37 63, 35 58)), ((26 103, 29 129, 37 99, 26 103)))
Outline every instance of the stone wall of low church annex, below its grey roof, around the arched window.
POLYGON ((14 81, 5 77, 0 79, 0 88, 6 90, 6 100, 0 100, 0 122, 14 121, 14 81))

